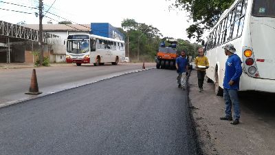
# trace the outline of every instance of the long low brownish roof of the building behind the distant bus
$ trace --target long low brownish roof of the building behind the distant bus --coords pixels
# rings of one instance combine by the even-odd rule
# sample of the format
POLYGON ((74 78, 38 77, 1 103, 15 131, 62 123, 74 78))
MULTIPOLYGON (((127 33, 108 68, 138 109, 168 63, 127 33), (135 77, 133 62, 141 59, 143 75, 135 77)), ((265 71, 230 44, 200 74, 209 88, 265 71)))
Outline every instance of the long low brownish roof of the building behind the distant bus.
MULTIPOLYGON (((27 28, 39 30, 39 24, 23 24, 27 28)), ((91 31, 91 24, 43 24, 43 31, 91 31)))

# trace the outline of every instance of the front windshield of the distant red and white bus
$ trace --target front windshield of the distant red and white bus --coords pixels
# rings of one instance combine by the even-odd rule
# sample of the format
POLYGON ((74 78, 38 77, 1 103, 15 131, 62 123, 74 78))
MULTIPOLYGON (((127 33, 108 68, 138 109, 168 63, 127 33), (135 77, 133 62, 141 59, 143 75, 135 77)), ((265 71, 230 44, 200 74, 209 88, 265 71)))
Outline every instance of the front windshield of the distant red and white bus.
POLYGON ((67 41, 67 52, 74 54, 89 52, 89 41, 67 41))

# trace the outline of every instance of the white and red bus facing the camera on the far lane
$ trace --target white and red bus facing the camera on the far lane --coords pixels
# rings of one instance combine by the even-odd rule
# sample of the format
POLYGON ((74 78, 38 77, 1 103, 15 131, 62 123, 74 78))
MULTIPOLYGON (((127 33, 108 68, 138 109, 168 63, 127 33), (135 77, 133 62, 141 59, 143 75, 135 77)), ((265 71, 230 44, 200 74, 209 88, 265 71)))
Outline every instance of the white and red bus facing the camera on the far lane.
POLYGON ((124 41, 100 37, 94 34, 69 34, 67 37, 66 62, 117 65, 125 56, 124 41))

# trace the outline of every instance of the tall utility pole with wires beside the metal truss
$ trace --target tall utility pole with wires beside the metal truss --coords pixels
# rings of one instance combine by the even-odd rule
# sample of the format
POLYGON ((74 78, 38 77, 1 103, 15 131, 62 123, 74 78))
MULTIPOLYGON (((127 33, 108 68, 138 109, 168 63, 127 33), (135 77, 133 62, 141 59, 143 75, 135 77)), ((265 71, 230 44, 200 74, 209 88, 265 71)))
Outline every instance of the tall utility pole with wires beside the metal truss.
POLYGON ((43 0, 39 0, 39 48, 40 48, 40 55, 39 55, 39 65, 42 65, 44 55, 43 55, 43 0))

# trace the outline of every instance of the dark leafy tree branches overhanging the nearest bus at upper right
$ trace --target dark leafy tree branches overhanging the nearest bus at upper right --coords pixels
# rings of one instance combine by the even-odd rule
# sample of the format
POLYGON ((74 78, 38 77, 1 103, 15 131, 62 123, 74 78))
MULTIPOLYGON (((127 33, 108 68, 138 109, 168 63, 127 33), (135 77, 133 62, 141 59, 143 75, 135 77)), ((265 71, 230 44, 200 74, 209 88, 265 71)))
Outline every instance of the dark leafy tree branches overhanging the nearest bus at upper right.
POLYGON ((175 0, 172 6, 189 13, 189 18, 195 24, 186 29, 188 38, 201 41, 203 30, 212 28, 232 3, 234 0, 175 0))

